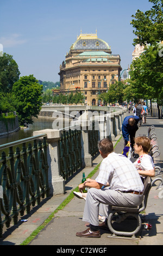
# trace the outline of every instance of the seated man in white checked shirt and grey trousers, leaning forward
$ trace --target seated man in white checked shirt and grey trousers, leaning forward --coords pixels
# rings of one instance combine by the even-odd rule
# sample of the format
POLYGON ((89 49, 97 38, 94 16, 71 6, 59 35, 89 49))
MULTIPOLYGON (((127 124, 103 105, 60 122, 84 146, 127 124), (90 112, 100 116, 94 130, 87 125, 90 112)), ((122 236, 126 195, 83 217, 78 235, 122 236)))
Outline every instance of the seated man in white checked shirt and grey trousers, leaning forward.
POLYGON ((99 153, 103 157, 96 180, 87 179, 79 185, 79 191, 89 187, 87 192, 83 221, 90 228, 77 232, 80 237, 101 237, 99 230, 99 205, 118 205, 134 207, 142 203, 143 184, 134 164, 127 157, 116 154, 110 139, 104 138, 98 143, 99 153), (102 188, 109 183, 110 188, 102 188))

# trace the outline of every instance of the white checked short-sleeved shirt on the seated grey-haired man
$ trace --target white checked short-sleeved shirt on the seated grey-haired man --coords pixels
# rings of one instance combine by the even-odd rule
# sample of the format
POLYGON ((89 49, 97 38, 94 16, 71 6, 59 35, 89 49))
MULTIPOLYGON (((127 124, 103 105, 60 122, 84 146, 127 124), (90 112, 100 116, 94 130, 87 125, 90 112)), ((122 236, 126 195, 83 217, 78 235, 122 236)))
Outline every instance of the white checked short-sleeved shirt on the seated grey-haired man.
POLYGON ((111 190, 143 191, 143 184, 134 164, 126 156, 114 152, 101 162, 96 181, 103 185, 109 182, 111 190))

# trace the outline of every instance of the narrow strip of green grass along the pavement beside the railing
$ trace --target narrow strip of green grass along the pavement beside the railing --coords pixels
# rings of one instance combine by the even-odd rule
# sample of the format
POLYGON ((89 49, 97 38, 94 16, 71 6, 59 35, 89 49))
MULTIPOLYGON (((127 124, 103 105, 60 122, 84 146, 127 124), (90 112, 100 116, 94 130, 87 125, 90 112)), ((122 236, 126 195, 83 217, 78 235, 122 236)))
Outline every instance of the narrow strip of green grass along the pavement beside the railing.
MULTIPOLYGON (((121 141, 121 138, 122 138, 122 136, 120 137, 120 139, 118 139, 118 141, 116 142, 114 148, 116 147, 117 143, 121 141)), ((91 178, 91 177, 97 172, 99 166, 100 166, 100 163, 92 170, 92 172, 91 172, 89 175, 87 175, 86 179, 91 178)), ((77 186, 76 188, 74 188, 73 191, 78 192, 78 191, 79 191, 79 190, 78 190, 78 186, 77 186)), ((39 234, 39 232, 40 232, 43 228, 45 228, 46 225, 47 225, 50 221, 52 221, 52 219, 54 218, 54 215, 57 214, 58 211, 60 211, 60 210, 62 210, 62 209, 65 208, 65 206, 66 206, 66 205, 72 200, 72 198, 74 197, 73 191, 71 191, 71 193, 70 193, 69 196, 64 200, 64 202, 62 202, 62 203, 58 206, 58 208, 57 208, 54 212, 52 212, 52 214, 49 215, 49 217, 48 217, 37 229, 35 229, 35 230, 33 231, 33 233, 32 233, 29 237, 27 237, 27 239, 24 240, 20 245, 28 245, 28 243, 29 243, 30 241, 32 241, 32 240, 35 238, 35 236, 36 236, 37 234, 39 234)))

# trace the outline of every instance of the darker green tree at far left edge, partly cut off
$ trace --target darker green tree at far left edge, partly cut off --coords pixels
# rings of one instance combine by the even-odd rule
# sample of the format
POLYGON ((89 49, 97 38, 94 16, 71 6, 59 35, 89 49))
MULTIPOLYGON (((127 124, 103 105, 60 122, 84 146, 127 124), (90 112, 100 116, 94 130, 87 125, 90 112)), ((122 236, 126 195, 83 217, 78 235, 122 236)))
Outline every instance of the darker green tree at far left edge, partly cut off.
POLYGON ((20 71, 18 65, 12 56, 3 53, 0 57, 0 92, 9 93, 12 90, 12 86, 18 81, 20 71))

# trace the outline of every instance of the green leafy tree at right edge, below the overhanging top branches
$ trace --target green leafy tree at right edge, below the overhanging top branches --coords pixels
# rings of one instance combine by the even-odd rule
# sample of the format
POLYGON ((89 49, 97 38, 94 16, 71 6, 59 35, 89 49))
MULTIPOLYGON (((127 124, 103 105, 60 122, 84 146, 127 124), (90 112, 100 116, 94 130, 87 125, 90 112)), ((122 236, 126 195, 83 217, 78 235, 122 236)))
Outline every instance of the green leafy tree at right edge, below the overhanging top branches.
POLYGON ((158 108, 163 103, 163 58, 158 48, 150 46, 130 66, 130 84, 134 97, 156 100, 158 108))

